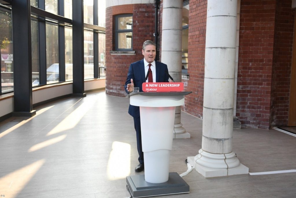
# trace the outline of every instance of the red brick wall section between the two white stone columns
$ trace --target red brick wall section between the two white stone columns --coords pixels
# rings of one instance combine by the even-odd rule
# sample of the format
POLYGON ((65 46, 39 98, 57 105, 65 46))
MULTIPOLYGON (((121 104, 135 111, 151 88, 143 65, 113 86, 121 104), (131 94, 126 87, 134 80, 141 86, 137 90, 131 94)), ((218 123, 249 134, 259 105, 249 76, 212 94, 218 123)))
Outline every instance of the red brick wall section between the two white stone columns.
POLYGON ((182 80, 186 91, 183 110, 193 116, 202 117, 205 76, 205 32, 207 22, 207 1, 189 1, 188 74, 189 80, 182 80))

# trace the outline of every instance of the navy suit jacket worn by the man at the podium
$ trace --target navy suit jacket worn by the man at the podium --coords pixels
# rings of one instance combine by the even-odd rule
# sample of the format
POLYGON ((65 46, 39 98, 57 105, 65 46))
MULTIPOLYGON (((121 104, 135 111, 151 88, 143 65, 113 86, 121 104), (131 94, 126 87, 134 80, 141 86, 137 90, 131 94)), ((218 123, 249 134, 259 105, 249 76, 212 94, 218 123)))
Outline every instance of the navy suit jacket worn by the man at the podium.
MULTIPOLYGON (((168 66, 166 64, 155 61, 155 70, 156 82, 168 82, 168 66)), ((126 84, 124 85, 126 93, 129 94, 126 87, 129 83, 131 83, 131 79, 133 79, 134 87, 139 87, 140 92, 142 92, 142 83, 146 82, 145 77, 144 59, 131 63, 128 69, 126 84)), ((140 108, 138 106, 130 105, 128 107, 128 113, 131 116, 138 118, 140 117, 140 108)))

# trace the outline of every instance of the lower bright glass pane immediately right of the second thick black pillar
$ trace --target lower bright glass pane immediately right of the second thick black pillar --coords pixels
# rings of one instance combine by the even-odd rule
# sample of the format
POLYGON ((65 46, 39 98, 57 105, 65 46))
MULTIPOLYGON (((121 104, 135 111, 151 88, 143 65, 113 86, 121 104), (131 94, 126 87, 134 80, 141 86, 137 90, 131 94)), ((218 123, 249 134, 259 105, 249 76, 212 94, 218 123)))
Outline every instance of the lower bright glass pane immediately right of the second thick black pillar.
POLYGON ((84 79, 94 78, 94 33, 84 31, 84 79))

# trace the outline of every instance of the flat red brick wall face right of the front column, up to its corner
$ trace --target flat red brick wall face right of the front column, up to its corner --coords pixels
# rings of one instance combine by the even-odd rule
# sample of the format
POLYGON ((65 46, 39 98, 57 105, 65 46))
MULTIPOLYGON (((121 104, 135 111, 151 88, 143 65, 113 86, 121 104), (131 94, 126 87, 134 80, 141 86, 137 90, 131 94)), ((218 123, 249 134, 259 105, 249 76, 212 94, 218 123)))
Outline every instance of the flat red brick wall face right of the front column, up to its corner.
POLYGON ((242 127, 269 128, 276 1, 242 0, 237 117, 242 127))

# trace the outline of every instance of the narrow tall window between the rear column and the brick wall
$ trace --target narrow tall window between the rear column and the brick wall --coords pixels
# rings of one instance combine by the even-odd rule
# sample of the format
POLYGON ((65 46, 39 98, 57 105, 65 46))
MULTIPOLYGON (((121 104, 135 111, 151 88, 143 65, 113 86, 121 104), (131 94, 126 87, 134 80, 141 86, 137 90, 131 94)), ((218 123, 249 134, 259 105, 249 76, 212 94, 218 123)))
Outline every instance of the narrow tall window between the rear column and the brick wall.
POLYGON ((182 73, 188 69, 188 27, 189 27, 189 1, 183 1, 182 16, 182 73))

